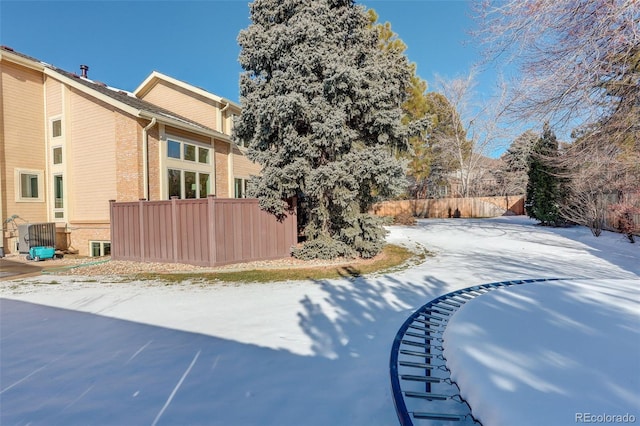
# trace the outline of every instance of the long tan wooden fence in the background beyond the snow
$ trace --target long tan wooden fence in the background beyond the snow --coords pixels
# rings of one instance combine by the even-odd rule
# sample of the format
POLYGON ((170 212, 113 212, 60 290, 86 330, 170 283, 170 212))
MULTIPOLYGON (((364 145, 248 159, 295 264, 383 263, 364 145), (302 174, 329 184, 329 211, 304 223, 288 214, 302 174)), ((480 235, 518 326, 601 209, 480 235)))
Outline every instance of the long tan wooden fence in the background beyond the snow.
POLYGON ((524 214, 524 196, 385 201, 374 204, 372 212, 377 216, 404 213, 426 218, 521 215, 524 214))

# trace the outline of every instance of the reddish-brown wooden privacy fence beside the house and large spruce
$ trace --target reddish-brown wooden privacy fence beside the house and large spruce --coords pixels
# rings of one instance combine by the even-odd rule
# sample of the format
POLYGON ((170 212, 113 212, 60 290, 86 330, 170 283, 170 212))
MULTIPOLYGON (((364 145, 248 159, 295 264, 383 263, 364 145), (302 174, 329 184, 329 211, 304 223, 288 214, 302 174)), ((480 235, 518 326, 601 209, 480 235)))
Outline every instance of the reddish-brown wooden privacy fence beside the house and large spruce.
POLYGON ((291 255, 295 201, 283 221, 256 199, 110 202, 111 258, 219 266, 291 255))

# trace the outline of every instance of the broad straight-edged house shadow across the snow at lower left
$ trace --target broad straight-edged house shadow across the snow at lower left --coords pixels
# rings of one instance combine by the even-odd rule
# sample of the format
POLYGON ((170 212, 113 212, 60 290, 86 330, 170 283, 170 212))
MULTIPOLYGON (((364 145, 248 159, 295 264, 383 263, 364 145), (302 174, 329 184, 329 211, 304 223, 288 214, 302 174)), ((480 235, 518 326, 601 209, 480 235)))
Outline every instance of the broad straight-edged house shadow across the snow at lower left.
POLYGON ((377 411, 350 411, 349 395, 330 391, 346 369, 326 357, 9 299, 0 308, 3 425, 394 420, 384 398, 377 411))

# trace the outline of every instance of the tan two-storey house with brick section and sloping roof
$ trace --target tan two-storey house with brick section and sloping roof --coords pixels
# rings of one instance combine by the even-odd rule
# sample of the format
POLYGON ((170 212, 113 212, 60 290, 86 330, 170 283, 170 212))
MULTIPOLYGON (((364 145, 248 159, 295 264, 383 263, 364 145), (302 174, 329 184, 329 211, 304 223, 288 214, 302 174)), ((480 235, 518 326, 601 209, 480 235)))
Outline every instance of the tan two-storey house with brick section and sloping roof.
POLYGON ((157 72, 131 93, 87 71, 0 48, 5 253, 17 251, 18 221, 55 222, 59 248, 101 256, 109 200, 244 197, 260 168, 231 140, 239 105, 157 72))

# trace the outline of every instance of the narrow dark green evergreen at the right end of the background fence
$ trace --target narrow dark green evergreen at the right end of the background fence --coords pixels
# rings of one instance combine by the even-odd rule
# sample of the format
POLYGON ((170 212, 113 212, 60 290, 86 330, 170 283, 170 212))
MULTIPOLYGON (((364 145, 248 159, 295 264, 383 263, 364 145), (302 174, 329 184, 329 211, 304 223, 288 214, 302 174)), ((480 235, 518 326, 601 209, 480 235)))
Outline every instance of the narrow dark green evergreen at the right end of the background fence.
POLYGON ((557 226, 561 221, 562 186, 559 171, 554 166, 557 157, 558 140, 549 123, 545 123, 531 153, 525 201, 529 217, 543 225, 557 226))

